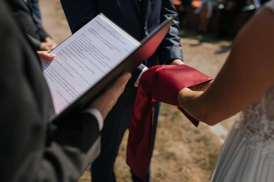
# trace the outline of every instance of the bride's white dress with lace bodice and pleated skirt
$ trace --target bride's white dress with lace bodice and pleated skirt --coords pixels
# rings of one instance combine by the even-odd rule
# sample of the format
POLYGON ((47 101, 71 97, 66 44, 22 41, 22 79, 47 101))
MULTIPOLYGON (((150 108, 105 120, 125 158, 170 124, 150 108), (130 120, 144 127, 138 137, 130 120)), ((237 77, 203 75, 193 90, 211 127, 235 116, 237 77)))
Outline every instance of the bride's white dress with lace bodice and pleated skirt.
MULTIPOLYGON (((267 6, 274 11, 274 0, 267 6)), ((274 86, 238 113, 211 181, 274 182, 274 86)))

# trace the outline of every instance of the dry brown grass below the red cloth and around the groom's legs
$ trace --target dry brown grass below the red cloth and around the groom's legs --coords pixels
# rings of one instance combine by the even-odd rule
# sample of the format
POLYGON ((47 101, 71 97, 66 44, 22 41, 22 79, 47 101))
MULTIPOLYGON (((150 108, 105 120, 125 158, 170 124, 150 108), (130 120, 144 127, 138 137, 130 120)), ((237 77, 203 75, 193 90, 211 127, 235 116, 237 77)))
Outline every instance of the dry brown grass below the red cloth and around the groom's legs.
MULTIPOLYGON (((120 145, 114 172, 118 182, 131 181, 125 163, 128 131, 120 145)), ((176 107, 162 104, 151 161, 151 181, 206 182, 221 149, 219 138, 200 123, 196 128, 176 107)), ((90 167, 79 182, 90 182, 90 167)))

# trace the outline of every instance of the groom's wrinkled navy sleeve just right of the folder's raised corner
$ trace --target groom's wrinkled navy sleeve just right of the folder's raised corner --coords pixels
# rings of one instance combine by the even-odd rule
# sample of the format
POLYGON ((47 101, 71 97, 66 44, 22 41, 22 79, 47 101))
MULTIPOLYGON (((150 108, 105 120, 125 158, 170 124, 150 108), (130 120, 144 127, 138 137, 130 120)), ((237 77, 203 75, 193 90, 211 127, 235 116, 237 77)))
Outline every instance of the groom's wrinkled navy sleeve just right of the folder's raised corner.
MULTIPOLYGON (((176 9, 170 0, 162 0, 161 22, 168 16, 176 14, 176 9)), ((182 47, 180 43, 180 24, 176 18, 170 26, 167 35, 158 48, 159 62, 165 64, 172 59, 183 60, 182 47)))

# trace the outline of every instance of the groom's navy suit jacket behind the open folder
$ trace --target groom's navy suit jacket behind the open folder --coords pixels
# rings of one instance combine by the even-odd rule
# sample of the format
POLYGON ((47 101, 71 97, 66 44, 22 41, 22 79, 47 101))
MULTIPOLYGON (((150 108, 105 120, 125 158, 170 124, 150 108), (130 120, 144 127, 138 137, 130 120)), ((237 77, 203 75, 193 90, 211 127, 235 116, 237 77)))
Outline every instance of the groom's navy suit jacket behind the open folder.
MULTIPOLYGON (((139 41, 153 31, 168 15, 176 13, 171 0, 61 0, 72 33, 103 12, 112 21, 139 41)), ((170 30, 159 48, 146 62, 146 66, 164 64, 173 59, 182 59, 179 21, 174 20, 170 30)), ((128 86, 133 86, 139 73, 144 68, 140 65, 132 73, 128 86)), ((135 100, 135 91, 128 91, 118 99, 118 105, 127 107, 135 100), (125 96, 127 94, 127 96, 125 96)))

